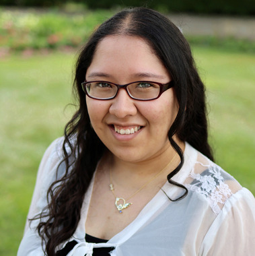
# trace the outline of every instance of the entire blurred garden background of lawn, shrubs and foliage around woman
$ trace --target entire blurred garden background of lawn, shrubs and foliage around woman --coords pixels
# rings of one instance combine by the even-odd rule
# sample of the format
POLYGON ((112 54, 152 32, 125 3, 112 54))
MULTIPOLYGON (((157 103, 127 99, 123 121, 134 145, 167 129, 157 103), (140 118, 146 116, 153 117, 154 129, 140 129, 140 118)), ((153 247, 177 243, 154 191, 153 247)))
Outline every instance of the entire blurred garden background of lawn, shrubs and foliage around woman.
POLYGON ((42 154, 75 111, 79 49, 126 6, 182 30, 207 86, 216 162, 255 195, 254 0, 0 0, 0 255, 16 255, 42 154))

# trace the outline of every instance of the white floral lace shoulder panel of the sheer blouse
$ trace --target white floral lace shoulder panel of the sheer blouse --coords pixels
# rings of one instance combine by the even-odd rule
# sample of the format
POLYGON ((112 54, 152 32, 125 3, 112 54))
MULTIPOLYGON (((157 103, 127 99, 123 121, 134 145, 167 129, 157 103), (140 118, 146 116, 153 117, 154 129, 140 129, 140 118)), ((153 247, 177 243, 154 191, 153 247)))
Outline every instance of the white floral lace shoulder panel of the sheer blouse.
POLYGON ((201 195, 209 203, 213 212, 219 214, 226 201, 231 199, 235 193, 243 194, 241 192, 243 187, 221 166, 191 146, 190 152, 192 166, 190 166, 190 173, 186 179, 186 187, 201 195))

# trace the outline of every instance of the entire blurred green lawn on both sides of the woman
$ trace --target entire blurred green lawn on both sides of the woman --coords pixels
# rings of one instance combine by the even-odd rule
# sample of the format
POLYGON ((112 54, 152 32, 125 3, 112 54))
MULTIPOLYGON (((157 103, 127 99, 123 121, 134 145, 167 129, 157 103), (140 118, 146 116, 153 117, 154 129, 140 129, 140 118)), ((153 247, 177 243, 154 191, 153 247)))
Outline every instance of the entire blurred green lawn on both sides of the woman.
MULTIPOLYGON (((255 195, 255 55, 194 47, 207 84, 217 163, 255 195)), ((16 255, 40 158, 73 106, 74 53, 0 60, 0 255, 16 255)))

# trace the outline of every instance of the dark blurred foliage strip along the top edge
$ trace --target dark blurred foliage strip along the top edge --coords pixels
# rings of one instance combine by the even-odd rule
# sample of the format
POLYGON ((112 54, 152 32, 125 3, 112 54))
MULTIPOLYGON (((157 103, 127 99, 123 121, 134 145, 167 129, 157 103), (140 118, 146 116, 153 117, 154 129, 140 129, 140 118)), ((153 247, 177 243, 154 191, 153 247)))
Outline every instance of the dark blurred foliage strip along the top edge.
MULTIPOLYGON (((17 7, 52 7, 65 5, 68 0, 0 0, 0 5, 17 7)), ((112 7, 144 6, 159 11, 175 13, 204 13, 255 15, 254 0, 73 0, 90 9, 108 9, 112 7)))

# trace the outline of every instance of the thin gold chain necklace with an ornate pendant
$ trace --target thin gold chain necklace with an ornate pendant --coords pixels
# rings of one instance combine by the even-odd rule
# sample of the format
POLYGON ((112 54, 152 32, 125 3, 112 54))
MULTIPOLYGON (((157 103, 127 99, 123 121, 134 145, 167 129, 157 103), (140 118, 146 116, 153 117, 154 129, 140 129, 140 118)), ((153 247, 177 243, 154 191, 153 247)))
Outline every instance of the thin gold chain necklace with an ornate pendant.
POLYGON ((155 174, 154 177, 152 177, 149 181, 147 181, 147 183, 143 184, 142 187, 140 187, 140 189, 137 189, 137 191, 135 191, 135 193, 133 193, 128 199, 124 199, 123 197, 116 197, 115 193, 114 193, 114 186, 112 184, 112 170, 110 169, 110 190, 112 191, 112 194, 115 197, 115 206, 118 210, 118 212, 120 214, 122 214, 122 210, 126 209, 127 207, 129 207, 129 205, 131 205, 132 203, 126 203, 126 201, 129 201, 129 199, 131 199, 132 197, 134 197, 135 195, 137 195, 137 193, 139 193, 143 188, 145 188, 149 183, 151 183, 152 181, 154 181, 160 174, 161 172, 163 172, 163 170, 165 170, 174 160, 174 158, 176 157, 177 153, 174 155, 174 157, 172 158, 172 160, 159 172, 157 172, 157 174, 155 174))

